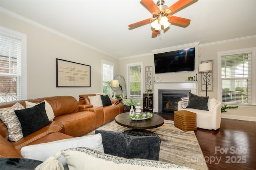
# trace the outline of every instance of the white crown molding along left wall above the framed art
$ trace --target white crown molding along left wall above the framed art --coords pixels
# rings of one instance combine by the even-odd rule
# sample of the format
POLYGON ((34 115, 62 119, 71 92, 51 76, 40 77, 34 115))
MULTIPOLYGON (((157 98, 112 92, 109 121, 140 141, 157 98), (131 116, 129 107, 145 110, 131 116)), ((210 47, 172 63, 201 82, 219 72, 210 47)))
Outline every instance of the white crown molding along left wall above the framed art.
POLYGON ((55 31, 55 30, 52 30, 51 28, 48 28, 48 27, 43 26, 43 25, 41 25, 41 24, 38 24, 37 22, 34 22, 34 21, 32 21, 32 20, 29 20, 28 18, 25 18, 25 17, 23 17, 23 16, 20 16, 20 15, 14 13, 14 12, 11 12, 11 11, 9 11, 9 10, 6 10, 6 9, 4 9, 4 8, 2 8, 2 7, 0 7, 0 12, 2 12, 3 14, 6 14, 6 15, 8 15, 8 16, 11 16, 11 17, 13 17, 13 18, 16 18, 16 19, 18 19, 18 20, 24 21, 24 22, 26 22, 26 23, 28 23, 28 24, 33 25, 33 26, 36 26, 36 27, 38 27, 38 28, 41 28, 41 29, 43 29, 43 30, 46 30, 46 31, 48 31, 48 32, 51 32, 52 34, 56 34, 56 35, 58 35, 58 36, 60 36, 60 37, 62 37, 62 38, 65 38, 65 39, 67 39, 67 40, 70 40, 70 41, 72 41, 72 42, 78 43, 78 44, 80 44, 80 45, 83 45, 83 46, 88 47, 88 48, 90 48, 90 49, 93 49, 93 50, 95 50, 95 51, 98 51, 98 52, 100 52, 100 53, 103 53, 103 54, 105 54, 105 55, 108 55, 108 56, 110 56, 110 57, 114 57, 114 58, 118 59, 118 58, 115 57, 114 55, 111 55, 111 54, 109 54, 109 53, 106 53, 105 51, 102 51, 102 50, 100 50, 100 49, 98 49, 98 48, 96 48, 96 47, 93 47, 93 46, 91 46, 91 45, 88 45, 88 44, 86 44, 86 43, 84 43, 84 42, 81 42, 81 41, 79 41, 79 40, 76 40, 75 38, 71 38, 71 37, 69 37, 69 36, 66 36, 65 34, 62 34, 62 33, 57 32, 57 31, 55 31))

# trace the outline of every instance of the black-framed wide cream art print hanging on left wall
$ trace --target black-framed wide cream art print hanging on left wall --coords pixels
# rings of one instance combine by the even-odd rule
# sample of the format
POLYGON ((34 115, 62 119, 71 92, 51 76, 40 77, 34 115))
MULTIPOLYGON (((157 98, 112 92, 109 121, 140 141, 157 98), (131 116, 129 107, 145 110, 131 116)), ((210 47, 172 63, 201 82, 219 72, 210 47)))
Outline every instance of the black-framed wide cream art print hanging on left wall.
POLYGON ((91 87, 91 66, 56 58, 56 87, 91 87))

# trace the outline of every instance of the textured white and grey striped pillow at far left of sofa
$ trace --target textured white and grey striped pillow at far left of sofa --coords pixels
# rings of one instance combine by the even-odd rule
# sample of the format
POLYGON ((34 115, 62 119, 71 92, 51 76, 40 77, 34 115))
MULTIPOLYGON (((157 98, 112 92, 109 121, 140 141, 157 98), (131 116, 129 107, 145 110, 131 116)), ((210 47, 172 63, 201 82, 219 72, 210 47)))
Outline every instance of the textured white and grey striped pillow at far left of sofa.
POLYGON ((20 103, 16 103, 12 107, 0 109, 0 119, 8 128, 9 140, 14 142, 23 138, 20 121, 14 112, 20 109, 25 109, 20 103))

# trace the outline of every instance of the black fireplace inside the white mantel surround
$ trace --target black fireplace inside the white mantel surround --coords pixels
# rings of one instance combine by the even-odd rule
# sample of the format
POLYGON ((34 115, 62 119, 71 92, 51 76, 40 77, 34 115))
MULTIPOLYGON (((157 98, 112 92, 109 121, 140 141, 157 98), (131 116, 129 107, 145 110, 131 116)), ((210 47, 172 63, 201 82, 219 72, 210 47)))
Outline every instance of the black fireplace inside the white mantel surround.
POLYGON ((191 90, 158 90, 158 112, 173 113, 178 110, 178 101, 191 90))

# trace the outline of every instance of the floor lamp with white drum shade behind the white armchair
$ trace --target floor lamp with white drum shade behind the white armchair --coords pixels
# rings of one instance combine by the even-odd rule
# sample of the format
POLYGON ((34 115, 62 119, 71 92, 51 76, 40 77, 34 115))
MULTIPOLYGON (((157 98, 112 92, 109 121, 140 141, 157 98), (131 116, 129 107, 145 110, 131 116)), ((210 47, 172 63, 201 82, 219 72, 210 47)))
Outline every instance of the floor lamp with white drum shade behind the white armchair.
POLYGON ((207 89, 208 89, 208 85, 210 83, 210 71, 212 71, 212 63, 202 63, 198 65, 198 71, 200 73, 203 73, 204 75, 204 85, 205 85, 205 89, 206 89, 206 96, 207 96, 207 89))

